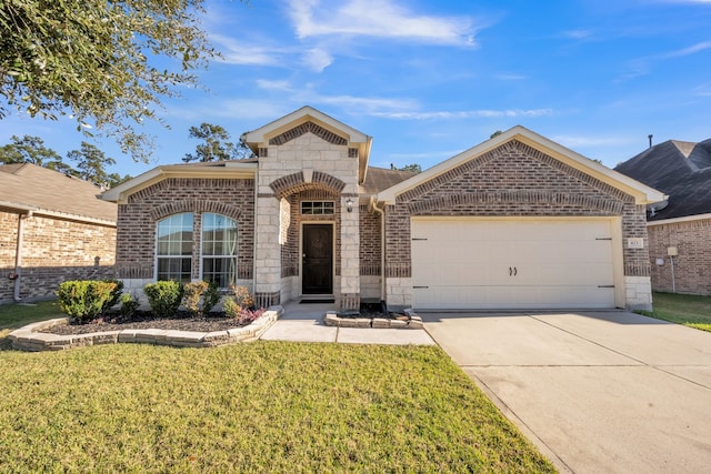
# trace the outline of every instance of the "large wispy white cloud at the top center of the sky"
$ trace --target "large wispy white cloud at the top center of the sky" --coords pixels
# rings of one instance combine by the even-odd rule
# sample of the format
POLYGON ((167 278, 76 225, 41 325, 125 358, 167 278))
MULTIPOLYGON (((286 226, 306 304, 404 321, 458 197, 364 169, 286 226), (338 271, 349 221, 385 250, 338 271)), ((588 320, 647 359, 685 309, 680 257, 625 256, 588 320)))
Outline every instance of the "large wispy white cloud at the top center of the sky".
POLYGON ((299 38, 365 36, 431 44, 474 44, 470 18, 417 14, 392 0, 348 0, 338 8, 320 0, 289 3, 299 38))

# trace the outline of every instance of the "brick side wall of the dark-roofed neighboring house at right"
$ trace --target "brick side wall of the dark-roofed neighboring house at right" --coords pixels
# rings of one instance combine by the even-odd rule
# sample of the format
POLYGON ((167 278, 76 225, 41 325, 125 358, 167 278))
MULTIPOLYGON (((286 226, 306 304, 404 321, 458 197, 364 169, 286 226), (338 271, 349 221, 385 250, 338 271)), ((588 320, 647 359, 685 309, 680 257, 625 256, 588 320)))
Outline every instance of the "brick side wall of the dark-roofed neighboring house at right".
POLYGON ((711 294, 711 219, 654 223, 648 226, 652 265, 652 289, 672 291, 669 246, 675 246, 674 285, 677 293, 711 294), (664 259, 657 265, 657 259, 664 259))

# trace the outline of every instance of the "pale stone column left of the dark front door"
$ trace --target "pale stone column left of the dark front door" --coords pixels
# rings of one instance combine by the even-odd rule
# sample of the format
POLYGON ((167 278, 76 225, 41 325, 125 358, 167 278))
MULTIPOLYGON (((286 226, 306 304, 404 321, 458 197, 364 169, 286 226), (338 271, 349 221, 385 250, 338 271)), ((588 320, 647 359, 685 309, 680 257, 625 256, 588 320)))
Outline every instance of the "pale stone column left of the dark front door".
POLYGON ((279 201, 277 198, 257 198, 254 300, 258 306, 269 307, 281 303, 279 219, 279 201))

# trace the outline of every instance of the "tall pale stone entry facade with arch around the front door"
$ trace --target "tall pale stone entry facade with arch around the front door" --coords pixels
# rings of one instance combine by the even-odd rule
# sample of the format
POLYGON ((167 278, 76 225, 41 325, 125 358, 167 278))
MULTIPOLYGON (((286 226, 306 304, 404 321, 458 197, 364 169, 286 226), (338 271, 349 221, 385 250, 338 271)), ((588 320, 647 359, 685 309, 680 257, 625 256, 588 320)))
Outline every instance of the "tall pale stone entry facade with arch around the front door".
MULTIPOLYGON (((268 147, 259 149, 257 220, 260 235, 256 250, 258 300, 269 304, 281 303, 281 284, 284 278, 289 278, 284 275, 298 272, 293 249, 294 245, 298 249, 299 236, 288 236, 286 248, 279 239, 279 226, 287 221, 281 211, 281 201, 289 200, 291 232, 292 228, 297 230, 300 226, 299 222, 293 220, 294 211, 300 209, 297 206, 298 200, 306 199, 297 194, 328 192, 339 208, 337 218, 323 218, 338 219, 334 230, 334 291, 340 288, 341 305, 357 304, 360 299, 357 228, 359 213, 358 209, 354 209, 352 213, 341 214, 340 209, 344 200, 358 200, 358 150, 348 148, 343 137, 313 122, 294 125, 280 135, 270 138, 267 144, 268 147), (292 195, 294 198, 290 198, 292 195), (356 229, 354 236, 351 228, 356 229)), ((298 256, 296 261, 298 262, 298 256)))

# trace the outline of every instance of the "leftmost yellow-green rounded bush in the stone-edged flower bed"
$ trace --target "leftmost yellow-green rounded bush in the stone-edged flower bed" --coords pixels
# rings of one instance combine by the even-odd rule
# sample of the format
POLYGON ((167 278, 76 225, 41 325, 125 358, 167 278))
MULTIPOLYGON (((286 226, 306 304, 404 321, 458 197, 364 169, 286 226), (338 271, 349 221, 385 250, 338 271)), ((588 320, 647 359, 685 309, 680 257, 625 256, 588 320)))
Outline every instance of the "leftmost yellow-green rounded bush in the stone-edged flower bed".
POLYGON ((117 283, 93 280, 72 280, 59 285, 59 307, 72 323, 83 324, 97 319, 108 307, 117 283))

